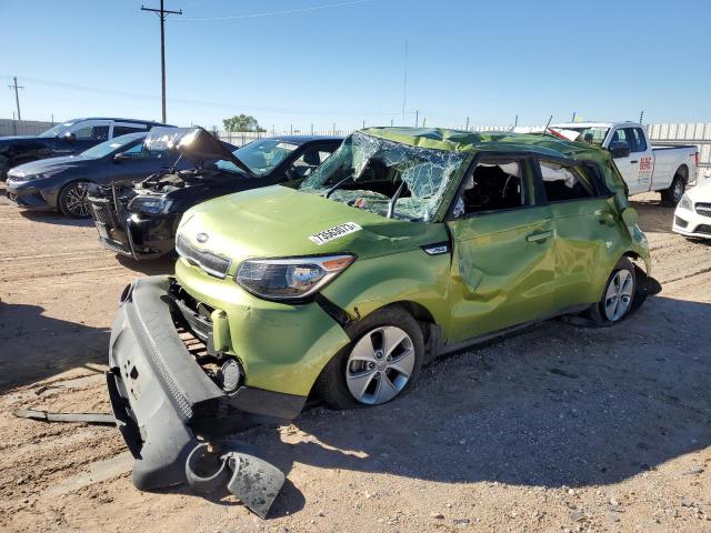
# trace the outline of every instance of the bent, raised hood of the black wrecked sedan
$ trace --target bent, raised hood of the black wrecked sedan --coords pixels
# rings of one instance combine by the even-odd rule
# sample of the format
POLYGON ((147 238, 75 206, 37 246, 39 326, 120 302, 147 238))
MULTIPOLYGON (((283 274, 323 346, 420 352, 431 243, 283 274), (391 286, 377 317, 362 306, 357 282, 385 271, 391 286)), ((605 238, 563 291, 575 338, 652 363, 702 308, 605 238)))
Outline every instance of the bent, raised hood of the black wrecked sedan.
POLYGON ((199 169, 208 162, 224 160, 249 174, 252 173, 242 161, 202 128, 153 128, 143 143, 149 150, 178 150, 199 169))

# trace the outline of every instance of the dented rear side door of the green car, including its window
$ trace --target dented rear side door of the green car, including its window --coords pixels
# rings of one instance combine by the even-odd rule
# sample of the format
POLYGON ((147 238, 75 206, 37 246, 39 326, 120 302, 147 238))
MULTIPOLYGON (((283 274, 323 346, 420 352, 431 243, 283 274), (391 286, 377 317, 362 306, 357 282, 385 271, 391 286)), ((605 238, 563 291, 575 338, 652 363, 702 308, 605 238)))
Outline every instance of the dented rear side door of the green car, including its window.
POLYGON ((539 172, 555 234, 555 310, 597 302, 621 238, 614 197, 593 163, 539 159, 539 172))

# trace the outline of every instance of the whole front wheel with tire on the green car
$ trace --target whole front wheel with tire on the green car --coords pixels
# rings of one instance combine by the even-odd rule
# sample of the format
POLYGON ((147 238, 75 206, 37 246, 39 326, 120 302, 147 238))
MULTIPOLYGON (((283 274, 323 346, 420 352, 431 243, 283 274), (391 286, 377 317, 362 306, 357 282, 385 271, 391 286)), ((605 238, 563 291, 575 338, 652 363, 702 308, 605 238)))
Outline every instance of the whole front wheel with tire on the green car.
POLYGON ((424 340, 417 321, 392 305, 348 331, 352 341, 323 369, 317 383, 333 409, 380 405, 407 393, 420 373, 424 340))

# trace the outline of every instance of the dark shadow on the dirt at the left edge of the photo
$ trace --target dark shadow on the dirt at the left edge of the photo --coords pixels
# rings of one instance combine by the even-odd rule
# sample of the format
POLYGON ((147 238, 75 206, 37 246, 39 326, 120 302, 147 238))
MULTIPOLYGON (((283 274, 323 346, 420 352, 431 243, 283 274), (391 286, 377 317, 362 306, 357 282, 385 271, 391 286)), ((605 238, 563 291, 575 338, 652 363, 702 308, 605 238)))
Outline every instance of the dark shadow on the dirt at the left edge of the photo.
POLYGON ((109 330, 0 301, 0 393, 88 363, 106 363, 109 330))

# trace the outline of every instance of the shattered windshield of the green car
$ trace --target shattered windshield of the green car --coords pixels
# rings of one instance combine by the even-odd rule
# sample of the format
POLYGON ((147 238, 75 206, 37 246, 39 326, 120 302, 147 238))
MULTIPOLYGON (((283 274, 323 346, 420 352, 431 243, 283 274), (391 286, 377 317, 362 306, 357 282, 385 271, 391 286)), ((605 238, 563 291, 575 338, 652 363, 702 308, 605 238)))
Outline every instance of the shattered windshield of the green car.
POLYGON ((382 217, 429 221, 465 158, 356 132, 299 190, 382 217))

